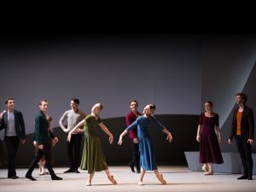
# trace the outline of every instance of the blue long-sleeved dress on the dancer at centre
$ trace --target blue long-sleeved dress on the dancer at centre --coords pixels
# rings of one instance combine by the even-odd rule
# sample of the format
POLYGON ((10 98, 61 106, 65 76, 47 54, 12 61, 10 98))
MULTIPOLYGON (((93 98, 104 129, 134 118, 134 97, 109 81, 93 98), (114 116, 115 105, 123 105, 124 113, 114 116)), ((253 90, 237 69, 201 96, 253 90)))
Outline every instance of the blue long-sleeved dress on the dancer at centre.
POLYGON ((130 131, 132 128, 137 127, 141 167, 146 171, 153 171, 157 169, 153 144, 148 134, 148 128, 151 124, 157 125, 161 130, 165 129, 164 125, 161 125, 154 117, 145 118, 144 116, 138 117, 136 121, 126 128, 126 131, 130 131))

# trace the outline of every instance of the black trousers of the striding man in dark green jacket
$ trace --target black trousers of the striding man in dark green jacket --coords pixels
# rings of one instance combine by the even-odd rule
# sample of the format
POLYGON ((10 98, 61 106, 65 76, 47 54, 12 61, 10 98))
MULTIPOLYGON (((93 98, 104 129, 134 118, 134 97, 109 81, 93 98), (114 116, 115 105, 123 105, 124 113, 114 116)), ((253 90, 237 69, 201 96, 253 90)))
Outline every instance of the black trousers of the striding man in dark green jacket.
POLYGON ((34 156, 31 165, 29 166, 28 171, 26 174, 32 175, 33 170, 35 167, 38 165, 38 161, 41 160, 43 154, 44 154, 44 159, 45 159, 45 166, 47 167, 49 174, 51 177, 55 176, 55 172, 52 169, 52 166, 50 164, 50 155, 51 155, 51 143, 44 143, 44 149, 38 149, 38 153, 34 156))

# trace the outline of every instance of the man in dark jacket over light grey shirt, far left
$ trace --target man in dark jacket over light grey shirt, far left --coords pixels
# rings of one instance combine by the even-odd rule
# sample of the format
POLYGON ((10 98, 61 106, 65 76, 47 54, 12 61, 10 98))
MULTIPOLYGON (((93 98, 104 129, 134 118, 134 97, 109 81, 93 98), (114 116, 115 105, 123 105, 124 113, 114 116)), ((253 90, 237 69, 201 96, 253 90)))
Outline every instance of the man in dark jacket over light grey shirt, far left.
POLYGON ((15 170, 15 157, 20 142, 26 142, 26 131, 23 115, 15 110, 15 100, 7 98, 5 101, 7 111, 0 113, 0 130, 4 129, 4 143, 8 151, 8 177, 18 178, 15 170))

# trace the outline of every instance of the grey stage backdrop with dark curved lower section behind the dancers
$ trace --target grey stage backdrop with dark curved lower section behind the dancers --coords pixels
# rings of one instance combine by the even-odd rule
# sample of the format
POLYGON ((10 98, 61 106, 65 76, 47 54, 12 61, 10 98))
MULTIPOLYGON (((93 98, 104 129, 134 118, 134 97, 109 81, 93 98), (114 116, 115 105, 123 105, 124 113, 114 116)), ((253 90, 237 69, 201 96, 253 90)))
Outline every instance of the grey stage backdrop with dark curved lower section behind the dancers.
MULTIPOLYGON (((198 114, 207 100, 220 117, 222 151, 236 150, 234 144, 227 144, 236 92, 247 93, 255 117, 253 34, 2 35, 0 40, 0 109, 5 98, 13 96, 28 134, 28 143, 18 154, 20 165, 32 159, 34 117, 42 98, 49 100, 49 114, 60 137, 55 163, 61 165, 67 164, 67 138, 58 120, 70 108, 73 96, 86 113, 95 102, 102 102, 102 119, 116 139, 125 129, 131 99, 138 100, 140 111, 154 102, 157 117, 175 138, 167 145, 163 134, 152 131, 160 163, 185 163, 183 151, 199 149, 195 142, 198 114)), ((110 148, 104 133, 99 135, 108 163, 122 164, 131 158, 127 137, 121 149, 116 143, 110 148)))

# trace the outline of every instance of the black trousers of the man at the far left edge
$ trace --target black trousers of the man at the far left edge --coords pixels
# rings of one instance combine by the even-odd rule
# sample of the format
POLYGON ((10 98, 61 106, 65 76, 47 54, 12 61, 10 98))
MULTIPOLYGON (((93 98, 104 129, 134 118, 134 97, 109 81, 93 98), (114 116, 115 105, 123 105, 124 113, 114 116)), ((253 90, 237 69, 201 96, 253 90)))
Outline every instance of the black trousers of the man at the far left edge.
POLYGON ((8 156, 8 177, 13 177, 16 176, 15 157, 20 146, 20 138, 17 136, 5 136, 4 143, 7 148, 8 156))

